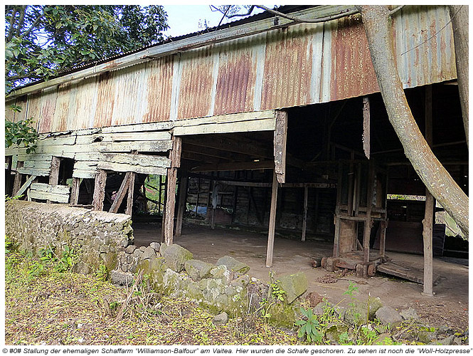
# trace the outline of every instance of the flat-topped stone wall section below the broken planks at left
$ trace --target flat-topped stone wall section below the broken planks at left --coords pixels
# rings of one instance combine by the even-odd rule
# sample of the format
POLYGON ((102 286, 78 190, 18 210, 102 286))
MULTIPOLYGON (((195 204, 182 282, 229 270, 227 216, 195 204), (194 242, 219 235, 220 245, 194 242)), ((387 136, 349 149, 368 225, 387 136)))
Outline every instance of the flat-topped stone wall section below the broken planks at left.
POLYGON ((132 220, 124 214, 23 200, 5 203, 5 234, 23 251, 64 246, 78 254, 75 271, 91 273, 100 265, 112 271, 117 256, 133 241, 132 220))

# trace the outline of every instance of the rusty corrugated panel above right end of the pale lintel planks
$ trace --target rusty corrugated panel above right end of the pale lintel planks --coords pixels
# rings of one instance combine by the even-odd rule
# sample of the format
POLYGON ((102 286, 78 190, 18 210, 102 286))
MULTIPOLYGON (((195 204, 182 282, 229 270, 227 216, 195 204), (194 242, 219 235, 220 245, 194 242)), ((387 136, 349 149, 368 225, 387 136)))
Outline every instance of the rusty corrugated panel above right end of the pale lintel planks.
POLYGON ((313 31, 317 26, 300 24, 267 34, 262 109, 309 103, 313 31))

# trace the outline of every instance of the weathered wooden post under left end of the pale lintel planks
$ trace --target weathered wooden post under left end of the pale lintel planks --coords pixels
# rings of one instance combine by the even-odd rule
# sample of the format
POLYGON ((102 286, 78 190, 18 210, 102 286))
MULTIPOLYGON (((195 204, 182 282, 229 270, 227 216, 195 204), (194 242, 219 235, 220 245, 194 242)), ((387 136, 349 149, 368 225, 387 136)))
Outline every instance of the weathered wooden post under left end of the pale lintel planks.
POLYGON ((176 207, 177 169, 181 166, 181 137, 173 137, 173 147, 169 153, 171 167, 167 169, 166 211, 164 211, 164 242, 172 245, 174 234, 174 209, 176 207))

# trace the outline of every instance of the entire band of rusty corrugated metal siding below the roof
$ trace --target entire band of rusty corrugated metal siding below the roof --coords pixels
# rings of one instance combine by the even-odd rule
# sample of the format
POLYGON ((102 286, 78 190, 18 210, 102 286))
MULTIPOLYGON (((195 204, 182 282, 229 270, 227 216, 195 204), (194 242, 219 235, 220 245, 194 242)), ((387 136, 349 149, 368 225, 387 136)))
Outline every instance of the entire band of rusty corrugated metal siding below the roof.
MULTIPOLYGON (((446 6, 406 6, 393 36, 405 88, 456 78, 446 6), (427 41, 425 44, 422 42, 427 41)), ((342 100, 378 91, 359 16, 156 58, 30 95, 41 132, 184 120, 342 100), (40 95, 41 96, 41 95, 40 95)))

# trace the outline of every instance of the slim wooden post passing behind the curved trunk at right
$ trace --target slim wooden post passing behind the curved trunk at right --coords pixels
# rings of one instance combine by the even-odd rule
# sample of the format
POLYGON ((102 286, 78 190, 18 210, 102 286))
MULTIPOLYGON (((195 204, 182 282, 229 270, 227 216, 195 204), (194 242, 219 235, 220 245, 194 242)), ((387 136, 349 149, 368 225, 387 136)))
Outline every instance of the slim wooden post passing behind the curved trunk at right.
MULTIPOLYGON (((432 147, 432 85, 425 87, 425 140, 432 147)), ((424 290, 425 295, 433 295, 432 226, 434 222, 435 199, 425 188, 425 214, 422 220, 424 241, 424 290)))

